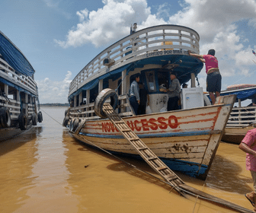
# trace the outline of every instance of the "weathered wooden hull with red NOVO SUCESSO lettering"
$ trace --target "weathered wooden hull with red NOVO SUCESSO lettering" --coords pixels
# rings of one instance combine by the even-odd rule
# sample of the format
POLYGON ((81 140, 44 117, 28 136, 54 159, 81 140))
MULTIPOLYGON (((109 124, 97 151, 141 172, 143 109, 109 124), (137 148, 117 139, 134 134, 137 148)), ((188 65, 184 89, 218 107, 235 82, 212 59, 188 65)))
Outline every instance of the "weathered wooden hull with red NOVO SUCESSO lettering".
MULTIPOLYGON (((171 170, 205 180, 232 109, 229 103, 123 118, 171 170)), ((139 156, 109 119, 86 121, 75 138, 104 150, 139 156)))

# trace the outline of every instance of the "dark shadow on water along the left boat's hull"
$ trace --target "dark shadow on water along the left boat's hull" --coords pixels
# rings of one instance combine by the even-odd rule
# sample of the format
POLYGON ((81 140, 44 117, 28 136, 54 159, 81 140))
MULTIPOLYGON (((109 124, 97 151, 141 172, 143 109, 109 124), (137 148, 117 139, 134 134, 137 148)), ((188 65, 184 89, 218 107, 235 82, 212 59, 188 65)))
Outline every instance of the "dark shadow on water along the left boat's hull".
POLYGON ((20 135, 16 135, 11 139, 0 142, 0 156, 7 154, 10 151, 14 151, 16 148, 21 147, 28 141, 32 141, 37 138, 40 133, 43 132, 42 126, 32 126, 26 132, 22 132, 20 135))

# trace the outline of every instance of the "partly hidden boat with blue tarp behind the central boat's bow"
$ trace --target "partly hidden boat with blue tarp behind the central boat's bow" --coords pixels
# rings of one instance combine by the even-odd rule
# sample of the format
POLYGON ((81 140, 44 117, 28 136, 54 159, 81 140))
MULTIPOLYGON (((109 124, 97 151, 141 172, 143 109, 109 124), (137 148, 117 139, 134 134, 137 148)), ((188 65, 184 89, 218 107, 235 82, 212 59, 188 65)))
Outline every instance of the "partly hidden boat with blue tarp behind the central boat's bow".
POLYGON ((238 106, 232 109, 227 122, 222 141, 240 144, 249 129, 256 128, 256 85, 235 84, 229 86, 221 95, 235 94, 238 106), (242 101, 251 100, 248 106, 242 106, 242 101))

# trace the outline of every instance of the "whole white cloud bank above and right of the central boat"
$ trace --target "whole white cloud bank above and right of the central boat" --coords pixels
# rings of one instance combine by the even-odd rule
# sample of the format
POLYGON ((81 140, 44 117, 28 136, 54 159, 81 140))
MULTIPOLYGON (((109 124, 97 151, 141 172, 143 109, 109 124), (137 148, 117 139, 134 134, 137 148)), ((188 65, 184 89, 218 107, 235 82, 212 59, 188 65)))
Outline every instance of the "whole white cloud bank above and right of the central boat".
MULTIPOLYGON (((152 14, 146 0, 103 0, 103 3, 104 7, 97 11, 88 11, 87 8, 78 11, 80 22, 69 30, 66 40, 55 42, 63 48, 86 43, 101 46, 128 35, 134 22, 138 24, 138 30, 158 24, 178 24, 200 34, 201 54, 216 49, 222 77, 250 73, 254 59, 251 41, 246 30, 242 32, 238 27, 242 23, 247 30, 250 27, 256 29, 254 0, 182 0, 182 10, 169 14, 168 18, 165 15, 170 11, 168 7, 171 5, 168 4, 159 5, 157 13, 152 14)), ((203 82, 205 78, 203 70, 199 79, 203 82)))

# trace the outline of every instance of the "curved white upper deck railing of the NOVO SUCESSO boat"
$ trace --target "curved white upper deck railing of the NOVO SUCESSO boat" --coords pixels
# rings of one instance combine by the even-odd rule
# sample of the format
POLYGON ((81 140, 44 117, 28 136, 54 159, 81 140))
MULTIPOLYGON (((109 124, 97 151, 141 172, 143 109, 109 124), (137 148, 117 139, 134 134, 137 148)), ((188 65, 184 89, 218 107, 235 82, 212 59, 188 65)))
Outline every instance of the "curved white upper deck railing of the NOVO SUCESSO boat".
POLYGON ((104 49, 92 59, 69 85, 69 95, 92 79, 115 68, 139 59, 157 56, 156 51, 159 50, 168 51, 168 54, 183 54, 184 50, 199 54, 199 40, 200 37, 195 30, 178 25, 159 25, 139 30, 104 49), (114 64, 108 67, 104 65, 104 59, 112 59, 114 64))

